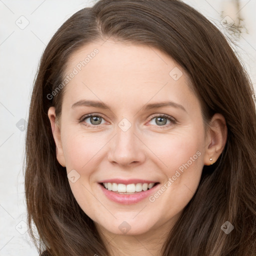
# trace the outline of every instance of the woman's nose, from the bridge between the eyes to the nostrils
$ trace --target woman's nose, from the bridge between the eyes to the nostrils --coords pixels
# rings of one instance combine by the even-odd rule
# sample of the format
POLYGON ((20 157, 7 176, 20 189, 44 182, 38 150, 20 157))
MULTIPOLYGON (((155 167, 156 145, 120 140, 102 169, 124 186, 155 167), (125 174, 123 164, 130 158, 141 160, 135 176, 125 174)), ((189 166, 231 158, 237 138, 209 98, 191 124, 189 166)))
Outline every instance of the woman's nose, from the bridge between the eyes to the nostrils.
POLYGON ((145 159, 143 143, 136 136, 135 125, 123 118, 116 127, 116 135, 110 142, 109 161, 126 165, 145 159))

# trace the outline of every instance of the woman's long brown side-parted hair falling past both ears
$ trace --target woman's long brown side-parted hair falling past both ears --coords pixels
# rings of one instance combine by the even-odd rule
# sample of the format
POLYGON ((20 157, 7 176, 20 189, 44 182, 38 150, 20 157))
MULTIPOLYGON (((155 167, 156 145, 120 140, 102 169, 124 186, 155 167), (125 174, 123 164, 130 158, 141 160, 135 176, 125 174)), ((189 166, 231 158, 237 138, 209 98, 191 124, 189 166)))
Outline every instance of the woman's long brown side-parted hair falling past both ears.
POLYGON ((170 230, 162 255, 256 255, 256 114, 248 75, 222 33, 179 0, 99 0, 73 14, 53 35, 40 60, 26 134, 25 194, 31 235, 41 253, 109 255, 94 222, 72 195, 57 159, 47 110, 61 114, 70 54, 99 38, 156 47, 189 75, 205 123, 226 120, 221 156, 204 166, 199 186, 170 230), (221 225, 234 229, 226 234, 221 225), (33 231, 33 224, 36 231, 33 231), (36 235, 38 232, 38 236, 36 235))

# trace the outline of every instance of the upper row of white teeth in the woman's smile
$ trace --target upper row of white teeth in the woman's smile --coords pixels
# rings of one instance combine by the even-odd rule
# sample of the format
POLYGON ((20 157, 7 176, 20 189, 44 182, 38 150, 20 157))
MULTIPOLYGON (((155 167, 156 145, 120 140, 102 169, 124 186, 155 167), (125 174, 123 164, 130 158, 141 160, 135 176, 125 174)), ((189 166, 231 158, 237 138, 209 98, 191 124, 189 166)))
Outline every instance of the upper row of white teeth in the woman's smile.
POLYGON ((133 183, 133 184, 117 184, 117 183, 103 183, 103 186, 111 191, 116 191, 120 193, 135 193, 135 192, 141 192, 146 191, 147 189, 150 189, 153 187, 155 183, 133 183))

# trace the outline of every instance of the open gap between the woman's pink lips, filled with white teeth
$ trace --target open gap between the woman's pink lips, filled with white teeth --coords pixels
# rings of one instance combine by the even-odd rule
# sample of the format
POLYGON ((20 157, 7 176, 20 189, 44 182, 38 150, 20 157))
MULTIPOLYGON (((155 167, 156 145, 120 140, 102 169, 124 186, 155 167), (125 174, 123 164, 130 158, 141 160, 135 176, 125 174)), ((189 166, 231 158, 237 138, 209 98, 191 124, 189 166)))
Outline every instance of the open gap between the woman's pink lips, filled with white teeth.
POLYGON ((115 183, 115 182, 99 182, 99 184, 106 190, 112 191, 117 194, 136 194, 143 191, 152 189, 154 186, 158 185, 159 182, 150 182, 150 183, 115 183))

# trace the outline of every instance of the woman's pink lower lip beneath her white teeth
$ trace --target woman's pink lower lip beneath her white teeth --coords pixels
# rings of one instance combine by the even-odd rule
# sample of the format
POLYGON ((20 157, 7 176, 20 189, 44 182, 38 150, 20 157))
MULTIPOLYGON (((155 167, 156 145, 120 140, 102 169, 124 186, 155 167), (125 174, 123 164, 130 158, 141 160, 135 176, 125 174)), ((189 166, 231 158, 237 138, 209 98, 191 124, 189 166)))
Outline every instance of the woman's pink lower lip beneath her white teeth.
POLYGON ((134 194, 119 194, 119 193, 116 193, 116 192, 106 189, 101 184, 98 184, 98 185, 100 186, 103 193, 105 194, 105 196, 108 199, 110 199, 114 202, 117 202, 117 203, 133 204, 133 203, 143 200, 146 197, 149 197, 150 194, 155 192, 155 190, 158 188, 159 184, 160 183, 156 184, 155 186, 153 186, 152 188, 150 188, 146 191, 141 191, 141 192, 134 193, 134 194))

